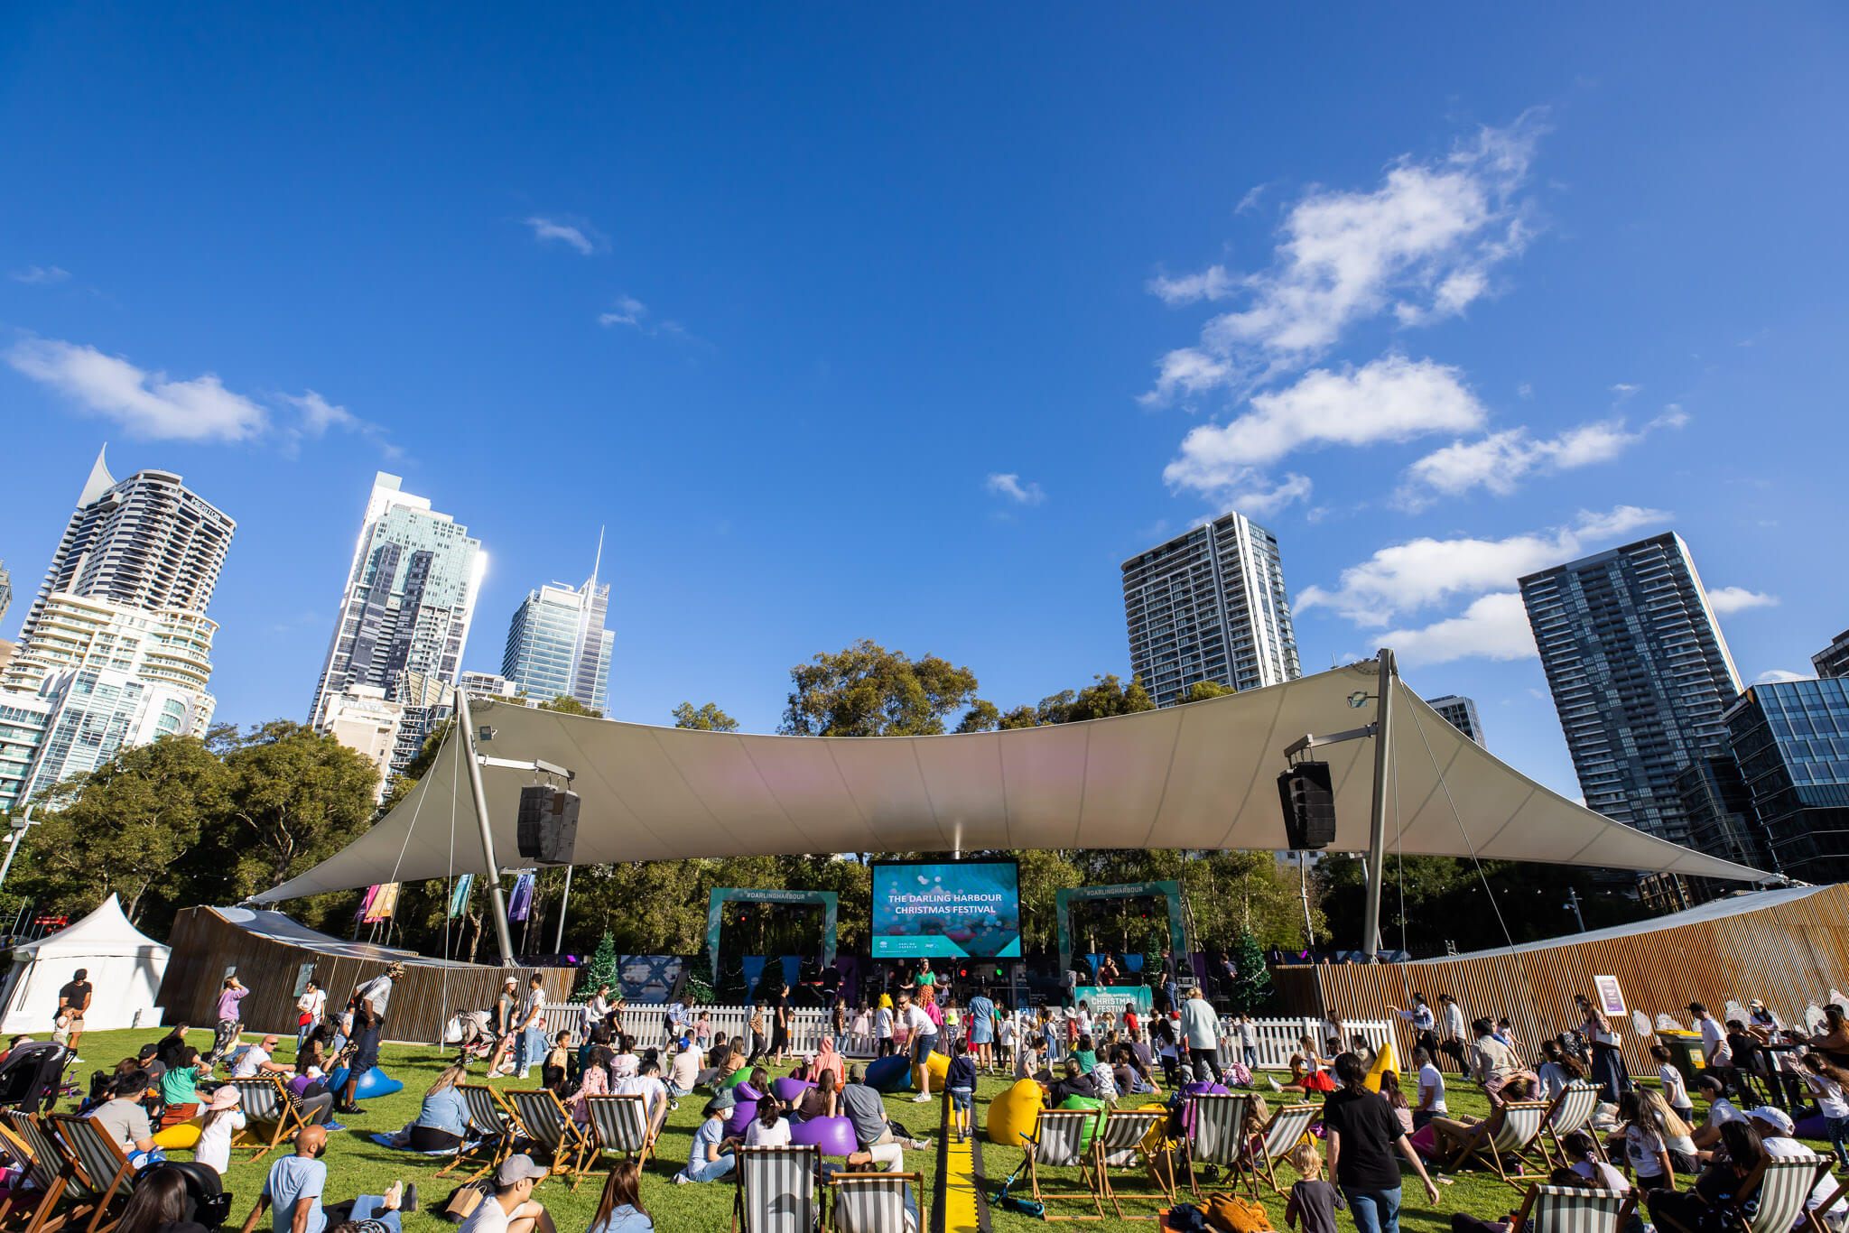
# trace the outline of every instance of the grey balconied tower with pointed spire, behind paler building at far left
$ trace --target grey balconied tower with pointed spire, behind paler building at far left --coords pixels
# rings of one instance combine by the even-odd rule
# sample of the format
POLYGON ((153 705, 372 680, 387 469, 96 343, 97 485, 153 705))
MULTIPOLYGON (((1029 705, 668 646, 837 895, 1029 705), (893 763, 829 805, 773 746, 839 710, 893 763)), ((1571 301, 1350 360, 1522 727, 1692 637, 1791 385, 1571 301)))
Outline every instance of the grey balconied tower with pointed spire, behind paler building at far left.
POLYGON ((135 471, 116 482, 96 453, 78 508, 18 630, 31 641, 55 592, 159 612, 205 612, 237 523, 172 471, 135 471))

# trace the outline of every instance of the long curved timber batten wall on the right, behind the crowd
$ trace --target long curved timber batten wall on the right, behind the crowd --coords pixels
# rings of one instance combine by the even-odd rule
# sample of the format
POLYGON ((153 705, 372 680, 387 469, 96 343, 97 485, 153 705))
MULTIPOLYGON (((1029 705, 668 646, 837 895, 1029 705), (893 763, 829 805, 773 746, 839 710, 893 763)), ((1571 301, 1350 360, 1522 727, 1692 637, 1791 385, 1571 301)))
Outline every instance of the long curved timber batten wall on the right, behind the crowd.
MULTIPOLYGON (((1507 1015, 1524 1057, 1540 1041, 1579 1026, 1573 996, 1596 1004, 1594 976, 1616 976, 1623 991, 1627 1013, 1612 1026, 1623 1037, 1633 1074, 1655 1072, 1657 1065, 1647 1054, 1653 1037, 1638 1037, 1629 1011, 1644 1011, 1653 1022, 1668 1013, 1690 1026, 1690 1002, 1723 1019, 1729 998, 1742 1006, 1764 998, 1786 1024, 1801 1022, 1806 1006, 1823 1006, 1832 987, 1849 983, 1849 884, 1622 937, 1566 937, 1533 950, 1422 963, 1329 963, 1272 972, 1291 1015, 1378 1019, 1387 1006, 1411 1006, 1414 991, 1437 1011, 1439 995, 1450 993, 1466 1024, 1479 1015, 1507 1015)), ((1398 1019, 1394 1044, 1400 1067, 1411 1065, 1413 1032, 1398 1019)))

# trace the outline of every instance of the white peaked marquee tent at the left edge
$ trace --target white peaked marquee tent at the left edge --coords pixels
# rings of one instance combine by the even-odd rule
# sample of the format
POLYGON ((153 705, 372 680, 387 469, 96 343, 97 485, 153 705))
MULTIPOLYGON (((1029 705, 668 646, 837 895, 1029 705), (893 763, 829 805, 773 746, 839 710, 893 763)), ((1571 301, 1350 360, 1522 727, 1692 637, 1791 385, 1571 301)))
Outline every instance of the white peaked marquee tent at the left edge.
POLYGON ((94 985, 85 1032, 133 1028, 137 1015, 144 1024, 161 1022, 155 993, 166 974, 166 946, 129 924, 111 895, 76 924, 13 948, 0 1033, 50 1035, 57 991, 80 967, 94 985))

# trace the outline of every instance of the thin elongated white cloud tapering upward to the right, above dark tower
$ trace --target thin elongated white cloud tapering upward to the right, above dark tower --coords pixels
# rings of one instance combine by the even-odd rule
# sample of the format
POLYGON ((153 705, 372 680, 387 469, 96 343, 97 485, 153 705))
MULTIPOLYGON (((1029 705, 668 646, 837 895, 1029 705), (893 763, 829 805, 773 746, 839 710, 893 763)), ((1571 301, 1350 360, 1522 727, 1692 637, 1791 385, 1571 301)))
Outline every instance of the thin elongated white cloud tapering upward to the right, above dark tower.
POLYGON ((1472 442, 1457 440, 1409 466, 1392 501, 1403 510, 1422 510, 1440 495, 1457 497, 1472 488, 1505 497, 1531 473, 1610 462, 1653 429, 1679 429, 1686 421, 1688 416, 1671 405, 1635 433, 1625 429, 1623 420, 1605 420, 1581 423, 1549 438, 1533 438, 1525 427, 1518 427, 1472 442))

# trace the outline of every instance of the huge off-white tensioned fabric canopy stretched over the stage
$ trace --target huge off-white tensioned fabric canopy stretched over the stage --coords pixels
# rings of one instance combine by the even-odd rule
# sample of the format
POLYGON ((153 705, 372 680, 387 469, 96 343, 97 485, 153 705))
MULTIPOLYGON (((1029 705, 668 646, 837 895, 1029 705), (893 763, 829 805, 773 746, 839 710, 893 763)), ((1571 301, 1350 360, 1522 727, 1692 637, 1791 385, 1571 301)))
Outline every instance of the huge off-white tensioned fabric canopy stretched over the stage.
MULTIPOLYGON (((1087 723, 967 736, 693 732, 473 702, 483 756, 569 767, 575 863, 801 852, 1285 847, 1285 747, 1374 719, 1376 664, 1087 723)), ((1505 765, 1394 682, 1387 850, 1708 878, 1766 874, 1655 839, 1505 765), (1429 751, 1429 752, 1427 752, 1429 751), (1442 776, 1440 776, 1442 771, 1442 776), (1448 789, 1448 791, 1446 791, 1448 789), (1455 804, 1455 813, 1453 813, 1455 804)), ((259 902, 484 873, 460 741, 377 826, 259 902)), ((1335 782, 1331 850, 1368 845, 1374 739, 1315 751, 1335 782)), ((518 865, 531 771, 483 767, 496 856, 518 865)))

